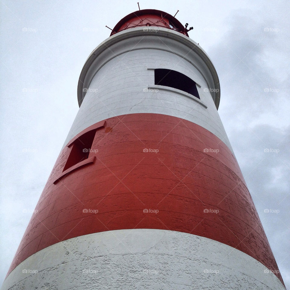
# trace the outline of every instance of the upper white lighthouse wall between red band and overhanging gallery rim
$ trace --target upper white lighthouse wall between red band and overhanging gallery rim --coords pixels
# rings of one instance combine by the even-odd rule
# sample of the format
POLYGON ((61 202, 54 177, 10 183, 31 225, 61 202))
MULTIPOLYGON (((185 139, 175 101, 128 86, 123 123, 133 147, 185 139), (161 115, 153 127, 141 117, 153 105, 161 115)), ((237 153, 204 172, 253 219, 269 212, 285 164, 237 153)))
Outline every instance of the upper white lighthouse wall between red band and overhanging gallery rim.
MULTIPOLYGON (((176 39, 158 33, 129 38, 123 33, 123 36, 124 39, 120 38, 113 44, 109 38, 95 50, 95 54, 99 54, 87 73, 93 77, 84 80, 87 84, 90 82, 88 88, 85 87, 88 91, 64 146, 76 134, 98 121, 123 114, 156 113, 196 123, 215 134, 232 150, 209 92, 208 84, 213 82, 209 79, 209 69, 200 56, 176 39), (105 44, 107 47, 102 50, 105 44), (200 99, 207 108, 178 90, 146 92, 154 85, 154 70, 150 69, 155 68, 173 69, 197 82, 201 86, 197 87, 200 99)), ((192 40, 187 38, 186 41, 192 40)))

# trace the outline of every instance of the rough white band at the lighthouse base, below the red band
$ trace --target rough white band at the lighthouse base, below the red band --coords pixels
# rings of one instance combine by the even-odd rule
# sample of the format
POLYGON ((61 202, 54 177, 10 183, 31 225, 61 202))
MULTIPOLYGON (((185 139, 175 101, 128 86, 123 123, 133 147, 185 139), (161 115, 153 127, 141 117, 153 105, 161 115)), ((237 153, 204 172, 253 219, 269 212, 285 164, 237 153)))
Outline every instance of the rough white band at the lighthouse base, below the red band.
POLYGON ((56 243, 19 264, 1 290, 36 288, 285 290, 269 269, 237 249, 153 229, 106 231, 56 243))

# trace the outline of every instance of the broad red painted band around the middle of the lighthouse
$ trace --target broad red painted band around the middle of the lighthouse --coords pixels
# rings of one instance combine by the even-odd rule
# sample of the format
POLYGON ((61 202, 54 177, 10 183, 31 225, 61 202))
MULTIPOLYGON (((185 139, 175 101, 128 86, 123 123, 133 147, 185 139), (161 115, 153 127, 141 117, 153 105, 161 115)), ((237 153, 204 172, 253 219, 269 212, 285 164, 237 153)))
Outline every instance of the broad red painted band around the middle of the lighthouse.
POLYGON ((211 238, 278 269, 236 159, 208 130, 176 117, 129 114, 106 120, 92 149, 98 149, 89 155, 96 156, 94 164, 54 185, 69 148, 60 153, 9 272, 62 240, 133 228, 211 238), (144 148, 159 152, 145 153, 144 148))

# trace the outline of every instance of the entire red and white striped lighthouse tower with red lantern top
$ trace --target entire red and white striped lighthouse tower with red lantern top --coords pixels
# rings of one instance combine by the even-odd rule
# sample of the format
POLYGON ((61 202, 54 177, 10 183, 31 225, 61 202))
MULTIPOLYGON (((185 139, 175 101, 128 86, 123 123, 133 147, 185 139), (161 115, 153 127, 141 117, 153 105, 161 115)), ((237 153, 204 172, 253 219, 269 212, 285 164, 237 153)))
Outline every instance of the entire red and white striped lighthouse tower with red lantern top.
POLYGON ((140 10, 93 50, 3 290, 285 289, 189 30, 140 10))

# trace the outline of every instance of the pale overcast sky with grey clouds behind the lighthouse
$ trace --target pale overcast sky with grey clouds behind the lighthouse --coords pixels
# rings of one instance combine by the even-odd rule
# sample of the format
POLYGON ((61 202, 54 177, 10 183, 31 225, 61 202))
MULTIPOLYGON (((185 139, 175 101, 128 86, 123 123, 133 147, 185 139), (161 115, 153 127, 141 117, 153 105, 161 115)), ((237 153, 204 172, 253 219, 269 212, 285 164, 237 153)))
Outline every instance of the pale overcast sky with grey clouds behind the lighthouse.
MULTIPOLYGON (((213 61, 221 120, 290 290, 289 0, 139 2, 141 9, 172 15, 179 9, 176 18, 194 27, 189 36, 213 61)), ((82 66, 109 37, 105 25, 113 28, 138 6, 127 0, 0 3, 2 285, 78 111, 82 66)))

